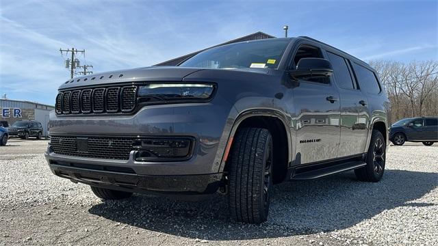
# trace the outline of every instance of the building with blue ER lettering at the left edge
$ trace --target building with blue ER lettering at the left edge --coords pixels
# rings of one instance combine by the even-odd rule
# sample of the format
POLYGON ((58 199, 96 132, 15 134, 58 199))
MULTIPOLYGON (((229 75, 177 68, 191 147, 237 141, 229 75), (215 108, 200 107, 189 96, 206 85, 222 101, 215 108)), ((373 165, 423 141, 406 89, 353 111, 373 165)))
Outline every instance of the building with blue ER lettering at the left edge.
POLYGON ((0 120, 7 121, 9 125, 18 120, 36 120, 42 124, 43 136, 47 136, 49 113, 54 109, 54 106, 38 102, 0 98, 0 120))

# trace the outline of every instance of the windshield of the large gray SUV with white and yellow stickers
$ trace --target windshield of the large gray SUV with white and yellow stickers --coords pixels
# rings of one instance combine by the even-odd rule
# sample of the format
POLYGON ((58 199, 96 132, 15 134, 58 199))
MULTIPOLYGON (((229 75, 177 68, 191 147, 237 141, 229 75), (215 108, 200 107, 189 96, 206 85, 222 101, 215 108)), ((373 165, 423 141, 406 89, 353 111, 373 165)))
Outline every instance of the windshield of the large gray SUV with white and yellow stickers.
POLYGON ((183 61, 192 68, 277 68, 289 40, 240 42, 208 49, 183 61))

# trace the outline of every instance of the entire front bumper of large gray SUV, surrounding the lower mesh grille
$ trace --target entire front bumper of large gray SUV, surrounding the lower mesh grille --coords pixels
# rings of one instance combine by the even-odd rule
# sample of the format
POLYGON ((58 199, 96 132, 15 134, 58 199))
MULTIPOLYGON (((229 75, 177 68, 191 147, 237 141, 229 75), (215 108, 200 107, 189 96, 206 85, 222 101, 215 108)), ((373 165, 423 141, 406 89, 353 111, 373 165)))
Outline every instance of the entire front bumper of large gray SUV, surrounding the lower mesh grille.
POLYGON ((213 103, 155 105, 134 115, 60 117, 52 111, 52 136, 192 137, 192 157, 184 161, 140 162, 132 150, 128 160, 97 159, 56 154, 49 146, 45 157, 53 174, 96 187, 136 193, 214 193, 220 187, 234 107, 218 97, 213 103), (233 112, 231 112, 233 111, 233 112))

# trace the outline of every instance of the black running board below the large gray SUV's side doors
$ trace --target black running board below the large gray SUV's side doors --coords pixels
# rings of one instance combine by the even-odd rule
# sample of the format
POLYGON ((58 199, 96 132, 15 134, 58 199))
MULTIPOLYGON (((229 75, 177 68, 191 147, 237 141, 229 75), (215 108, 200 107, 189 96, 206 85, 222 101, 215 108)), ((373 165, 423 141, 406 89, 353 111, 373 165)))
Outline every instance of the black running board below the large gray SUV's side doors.
POLYGON ((359 167, 363 167, 367 165, 367 163, 364 163, 363 161, 349 161, 342 164, 337 165, 331 165, 326 167, 321 167, 317 169, 310 169, 305 172, 300 172, 300 169, 308 169, 307 168, 297 168, 295 170, 295 174, 292 175, 292 180, 309 180, 313 178, 320 178, 323 176, 336 174, 339 172, 344 172, 352 169, 357 169, 359 167))

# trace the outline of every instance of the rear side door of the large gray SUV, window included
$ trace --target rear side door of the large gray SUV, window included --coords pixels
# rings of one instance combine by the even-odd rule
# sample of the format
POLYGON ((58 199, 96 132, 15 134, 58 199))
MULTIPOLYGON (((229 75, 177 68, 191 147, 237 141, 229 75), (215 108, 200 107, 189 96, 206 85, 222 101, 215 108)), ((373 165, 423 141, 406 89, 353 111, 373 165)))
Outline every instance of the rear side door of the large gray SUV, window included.
POLYGON ((337 85, 341 103, 341 139, 337 157, 362 154, 368 137, 368 99, 359 90, 348 59, 330 51, 326 54, 333 66, 331 80, 337 85))

